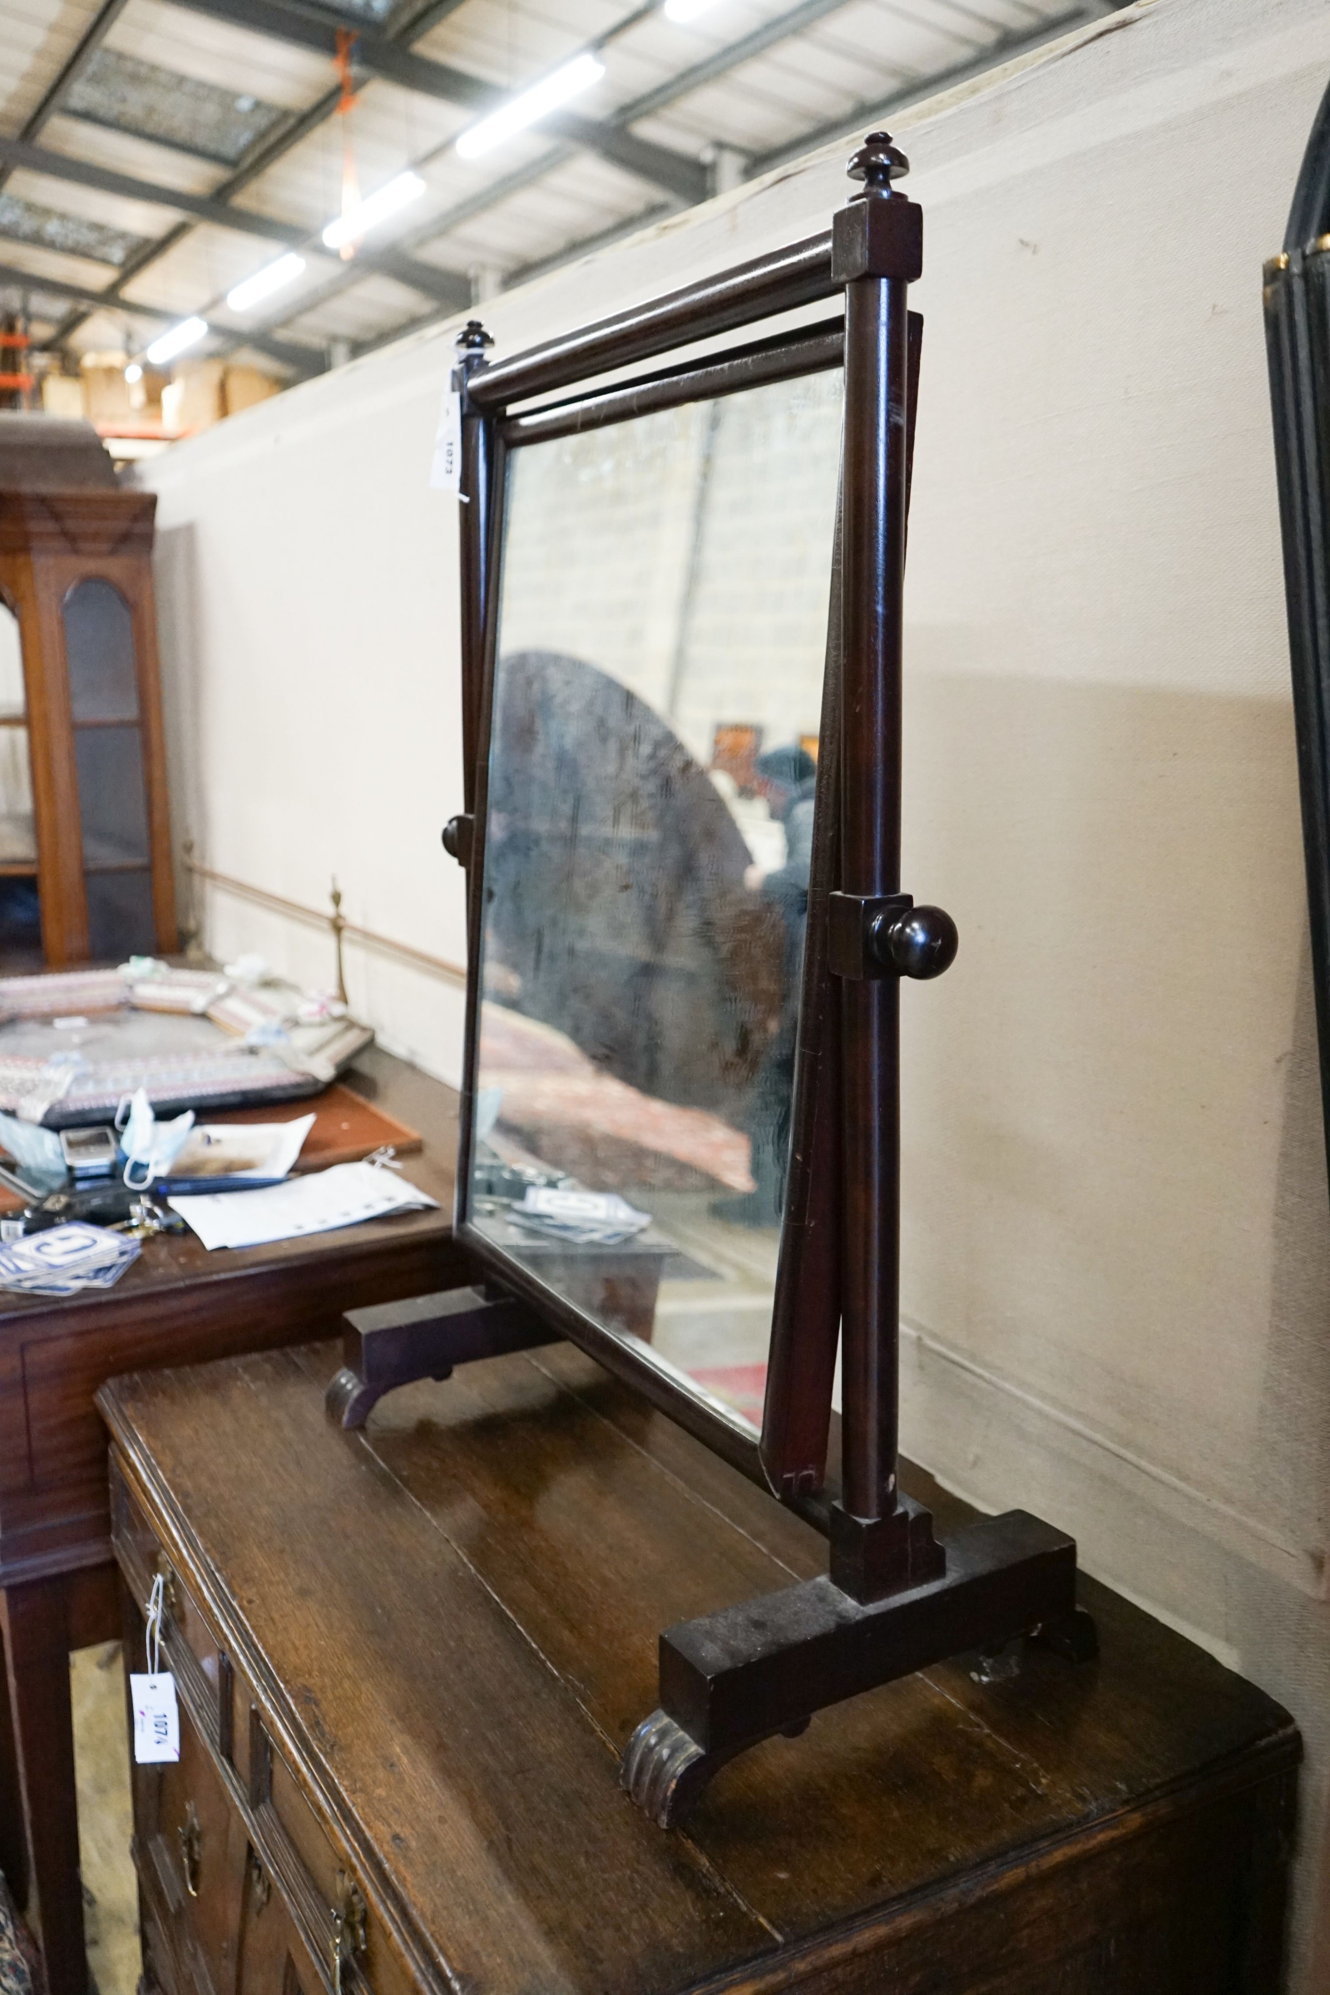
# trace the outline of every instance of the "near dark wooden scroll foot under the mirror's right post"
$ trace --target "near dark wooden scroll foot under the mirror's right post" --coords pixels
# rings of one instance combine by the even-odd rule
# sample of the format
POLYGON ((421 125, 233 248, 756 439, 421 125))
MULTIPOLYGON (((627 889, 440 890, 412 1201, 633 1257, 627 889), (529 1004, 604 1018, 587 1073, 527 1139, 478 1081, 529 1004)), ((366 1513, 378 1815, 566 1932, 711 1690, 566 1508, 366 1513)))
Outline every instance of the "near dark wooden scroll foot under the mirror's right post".
POLYGON ((861 1604, 818 1578, 668 1628, 660 1710, 634 1732, 620 1772, 634 1803, 676 1827, 736 1754, 794 1738, 816 1712, 947 1656, 1019 1636, 1069 1660, 1097 1654, 1065 1532, 1007 1510, 955 1532, 945 1554, 945 1572, 887 1600, 861 1604))

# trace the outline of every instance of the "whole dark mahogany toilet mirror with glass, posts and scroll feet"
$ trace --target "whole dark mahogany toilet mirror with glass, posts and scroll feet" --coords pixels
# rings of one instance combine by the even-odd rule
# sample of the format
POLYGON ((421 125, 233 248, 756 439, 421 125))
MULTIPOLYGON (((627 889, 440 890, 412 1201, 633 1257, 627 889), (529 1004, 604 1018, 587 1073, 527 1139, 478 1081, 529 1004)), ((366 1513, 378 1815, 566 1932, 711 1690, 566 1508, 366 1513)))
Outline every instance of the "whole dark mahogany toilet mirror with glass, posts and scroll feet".
POLYGON ((566 1337, 826 1532, 662 1634, 622 1770, 662 1825, 875 1684, 1095 1652, 1063 1532, 939 1542, 895 1474, 899 992, 957 950, 899 886, 905 170, 871 134, 826 233, 497 363, 473 321, 453 377, 477 1283, 351 1313, 329 1412, 566 1337))

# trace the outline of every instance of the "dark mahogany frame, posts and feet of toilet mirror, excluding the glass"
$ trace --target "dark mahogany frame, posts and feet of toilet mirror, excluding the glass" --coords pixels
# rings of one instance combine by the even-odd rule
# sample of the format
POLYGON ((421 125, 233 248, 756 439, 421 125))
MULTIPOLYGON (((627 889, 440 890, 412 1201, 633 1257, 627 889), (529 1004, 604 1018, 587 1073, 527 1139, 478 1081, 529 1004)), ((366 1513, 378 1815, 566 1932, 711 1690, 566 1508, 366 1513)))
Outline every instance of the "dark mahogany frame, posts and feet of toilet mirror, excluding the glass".
MULTIPOLYGON (((487 363, 479 325, 459 341, 469 790, 445 846, 469 868, 475 1049, 504 451, 522 441, 522 425, 538 427, 544 411, 572 421, 562 403, 520 417, 506 409, 818 297, 839 293, 845 301, 843 329, 814 329, 818 339, 843 341, 841 517, 762 1440, 716 1418, 566 1299, 542 1293, 469 1223, 473 1057, 457 1231, 485 1279, 415 1305, 357 1311, 347 1319, 347 1363, 329 1387, 329 1412, 359 1424, 393 1385, 447 1377, 467 1359, 530 1349, 562 1333, 826 1532, 824 1578, 662 1634, 660 1710, 638 1726, 622 1766, 624 1788, 662 1827, 688 1813, 726 1760, 776 1734, 798 1736, 816 1712, 843 1698, 1017 1638, 1069 1660, 1097 1648, 1095 1626, 1075 1600, 1071 1538, 1013 1510, 939 1540, 929 1512, 897 1482, 899 986, 903 976, 939 976, 957 950, 951 918, 915 906, 899 884, 901 593, 919 355, 907 287, 923 255, 919 207, 891 186, 905 170, 889 136, 875 132, 849 162, 861 190, 828 235, 499 365, 487 363), (839 1488, 826 1474, 837 1337, 839 1488)), ((638 409, 686 399, 690 369, 694 379, 706 377, 694 399, 770 379, 774 369, 794 373, 806 365, 794 351, 800 341, 808 355, 816 339, 800 329, 616 385, 602 403, 638 409)))

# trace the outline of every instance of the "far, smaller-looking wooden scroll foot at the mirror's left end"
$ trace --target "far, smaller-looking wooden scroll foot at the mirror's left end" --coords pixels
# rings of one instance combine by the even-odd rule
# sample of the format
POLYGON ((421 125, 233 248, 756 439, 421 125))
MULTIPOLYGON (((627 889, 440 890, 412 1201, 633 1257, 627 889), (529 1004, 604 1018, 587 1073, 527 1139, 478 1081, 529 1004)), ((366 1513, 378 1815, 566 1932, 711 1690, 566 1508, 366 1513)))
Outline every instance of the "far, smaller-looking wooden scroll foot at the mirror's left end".
POLYGON ((341 1371, 323 1406, 335 1426, 363 1426, 371 1410, 399 1385, 447 1379, 455 1365, 499 1359, 514 1351, 554 1345, 550 1329, 508 1295, 481 1289, 443 1289, 401 1303, 349 1309, 343 1321, 341 1371))

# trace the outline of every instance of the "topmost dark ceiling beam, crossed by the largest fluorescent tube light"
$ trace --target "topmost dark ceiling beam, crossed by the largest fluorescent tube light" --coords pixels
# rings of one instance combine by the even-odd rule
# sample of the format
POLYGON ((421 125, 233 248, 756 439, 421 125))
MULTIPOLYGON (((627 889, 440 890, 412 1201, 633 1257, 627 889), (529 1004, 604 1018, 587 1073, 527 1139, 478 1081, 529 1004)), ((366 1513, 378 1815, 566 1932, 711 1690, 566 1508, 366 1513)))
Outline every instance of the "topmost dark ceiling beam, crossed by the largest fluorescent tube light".
MULTIPOLYGON (((307 14, 293 0, 175 0, 175 6, 207 14, 211 20, 229 22, 235 28, 267 34, 277 42, 289 42, 295 48, 307 48, 321 56, 331 58, 337 54, 339 22, 331 10, 319 8, 317 16, 307 14)), ((447 104, 459 104, 471 112, 497 110, 512 96, 510 90, 489 84, 481 76, 471 76, 467 70, 457 70, 449 62, 431 62, 427 56, 413 54, 413 50, 395 42, 389 34, 367 28, 355 16, 343 16, 341 26, 355 34, 353 64, 371 76, 401 84, 403 90, 443 98, 447 104)), ((574 112, 550 112, 540 120, 540 128, 554 138, 566 138, 572 146, 598 154, 602 160, 634 174, 650 186, 664 188, 676 200, 706 200, 706 168, 700 160, 684 152, 674 152, 670 146, 656 146, 650 140, 636 138, 632 132, 624 132, 618 120, 604 122, 600 118, 578 118, 574 112)))

